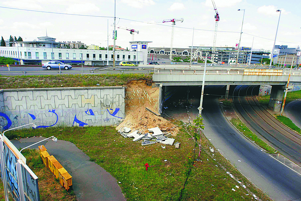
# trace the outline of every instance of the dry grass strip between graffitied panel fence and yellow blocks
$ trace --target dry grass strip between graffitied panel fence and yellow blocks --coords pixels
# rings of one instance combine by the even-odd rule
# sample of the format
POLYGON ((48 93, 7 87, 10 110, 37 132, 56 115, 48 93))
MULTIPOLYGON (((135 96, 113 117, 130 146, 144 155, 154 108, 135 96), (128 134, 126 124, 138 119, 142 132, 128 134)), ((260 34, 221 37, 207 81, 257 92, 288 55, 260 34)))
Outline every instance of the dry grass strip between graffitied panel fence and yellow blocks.
MULTIPOLYGON (((27 159, 26 164, 39 177, 40 200, 43 201, 76 200, 74 192, 73 191, 71 191, 70 193, 67 192, 61 186, 59 180, 56 179, 53 173, 44 165, 38 150, 25 149, 22 152, 22 154, 27 159)), ((3 183, 0 191, 0 200, 5 200, 3 183)))

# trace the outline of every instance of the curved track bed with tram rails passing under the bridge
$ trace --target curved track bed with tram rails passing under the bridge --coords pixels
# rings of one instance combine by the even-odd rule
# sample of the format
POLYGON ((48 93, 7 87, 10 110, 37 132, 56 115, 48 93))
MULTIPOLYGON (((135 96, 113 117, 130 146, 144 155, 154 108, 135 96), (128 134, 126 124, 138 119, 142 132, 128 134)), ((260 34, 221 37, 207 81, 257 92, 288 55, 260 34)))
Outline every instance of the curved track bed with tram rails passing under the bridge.
MULTIPOLYGON (((260 106, 252 91, 256 86, 237 86, 233 92, 236 114, 257 136, 262 136, 285 157, 301 166, 301 136, 279 123, 260 106)), ((258 88, 257 88, 258 89, 258 88)))

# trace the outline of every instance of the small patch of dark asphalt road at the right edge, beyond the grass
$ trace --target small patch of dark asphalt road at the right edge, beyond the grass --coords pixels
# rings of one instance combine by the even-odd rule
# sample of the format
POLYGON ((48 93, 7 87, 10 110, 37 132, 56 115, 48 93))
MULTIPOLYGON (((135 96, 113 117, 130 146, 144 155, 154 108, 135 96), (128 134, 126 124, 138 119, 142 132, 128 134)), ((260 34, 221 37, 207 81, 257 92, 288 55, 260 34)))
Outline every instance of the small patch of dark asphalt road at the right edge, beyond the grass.
POLYGON ((284 114, 299 128, 301 128, 301 99, 294 100, 284 107, 284 114))

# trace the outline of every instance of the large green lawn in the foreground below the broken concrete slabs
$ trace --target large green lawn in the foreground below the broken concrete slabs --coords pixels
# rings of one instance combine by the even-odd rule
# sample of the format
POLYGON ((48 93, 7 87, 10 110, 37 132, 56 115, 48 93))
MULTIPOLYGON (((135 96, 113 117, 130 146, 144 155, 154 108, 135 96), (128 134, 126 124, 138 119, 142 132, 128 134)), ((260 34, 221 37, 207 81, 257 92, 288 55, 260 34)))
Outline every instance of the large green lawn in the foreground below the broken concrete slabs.
MULTIPOLYGON (((182 125, 179 122, 177 124, 182 125)), ((46 128, 9 131, 6 134, 10 138, 54 135, 60 140, 74 143, 91 161, 121 182, 119 185, 127 200, 179 200, 188 168, 186 160, 194 148, 194 141, 188 140, 191 136, 182 127, 179 128, 175 142, 181 142, 180 149, 169 145, 162 149, 159 143, 141 146, 141 142, 123 138, 114 127, 46 128), (145 163, 158 166, 149 167, 145 171, 145 163)), ((189 128, 186 130, 191 132, 189 128)), ((209 146, 213 147, 202 135, 202 162, 195 162, 181 200, 251 200, 252 193, 262 200, 270 200, 219 152, 214 155, 210 153, 209 146), (226 171, 247 188, 240 186, 226 171)))

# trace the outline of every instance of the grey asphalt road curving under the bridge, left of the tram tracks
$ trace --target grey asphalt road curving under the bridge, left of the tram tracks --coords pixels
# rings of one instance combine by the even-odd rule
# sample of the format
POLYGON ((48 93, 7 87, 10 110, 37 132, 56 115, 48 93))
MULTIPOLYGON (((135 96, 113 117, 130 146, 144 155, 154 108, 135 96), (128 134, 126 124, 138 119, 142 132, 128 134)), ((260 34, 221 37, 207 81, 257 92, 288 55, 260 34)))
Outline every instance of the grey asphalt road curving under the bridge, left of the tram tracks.
MULTIPOLYGON (((189 98, 193 105, 180 107, 186 99, 185 89, 169 99, 165 113, 175 119, 193 120, 199 111, 200 87, 190 87, 189 98), (191 99, 192 98, 192 99, 191 99), (176 106, 176 107, 175 107, 176 106), (186 114, 186 117, 184 116, 186 114), (185 117, 185 118, 184 118, 185 117), (183 118, 183 119, 181 119, 183 118)), ((205 93, 212 94, 214 87, 205 87, 205 93), (208 90, 208 88, 210 90, 208 90), (206 91, 207 89, 207 91, 206 91)), ((225 118, 219 106, 219 96, 205 95, 202 117, 204 134, 242 174, 266 192, 273 200, 295 200, 301 198, 301 175, 275 160, 240 134, 225 118)))

